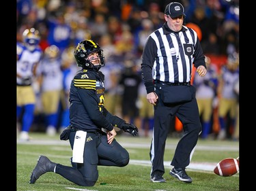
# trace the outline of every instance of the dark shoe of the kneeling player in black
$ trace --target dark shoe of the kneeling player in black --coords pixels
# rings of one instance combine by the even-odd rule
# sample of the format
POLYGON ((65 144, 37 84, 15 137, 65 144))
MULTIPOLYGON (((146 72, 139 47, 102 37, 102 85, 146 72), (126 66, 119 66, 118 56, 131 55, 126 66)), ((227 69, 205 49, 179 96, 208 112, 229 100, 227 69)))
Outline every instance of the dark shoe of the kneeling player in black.
POLYGON ((39 156, 38 164, 36 164, 35 169, 33 169, 30 177, 30 184, 34 184, 35 181, 46 172, 53 172, 56 166, 55 162, 51 162, 46 156, 39 156))

